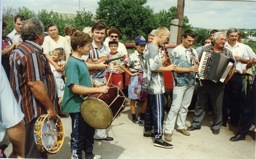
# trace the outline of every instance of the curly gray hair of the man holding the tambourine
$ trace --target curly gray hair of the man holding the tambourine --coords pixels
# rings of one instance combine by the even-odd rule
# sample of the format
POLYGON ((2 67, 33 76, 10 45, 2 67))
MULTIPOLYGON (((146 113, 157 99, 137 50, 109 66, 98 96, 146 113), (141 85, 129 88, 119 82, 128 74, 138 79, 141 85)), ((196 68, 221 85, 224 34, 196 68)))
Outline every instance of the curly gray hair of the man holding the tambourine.
POLYGON ((21 39, 22 40, 36 40, 37 34, 44 34, 44 24, 38 17, 32 17, 25 20, 21 26, 21 39))

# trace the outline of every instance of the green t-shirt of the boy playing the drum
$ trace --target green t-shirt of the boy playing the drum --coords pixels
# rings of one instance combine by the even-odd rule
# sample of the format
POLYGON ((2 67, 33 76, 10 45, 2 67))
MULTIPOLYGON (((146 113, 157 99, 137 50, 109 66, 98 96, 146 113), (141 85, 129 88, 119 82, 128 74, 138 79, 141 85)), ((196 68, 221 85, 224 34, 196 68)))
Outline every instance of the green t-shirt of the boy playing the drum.
POLYGON ((61 110, 67 113, 80 112, 80 106, 83 99, 79 94, 74 94, 71 90, 71 84, 77 84, 84 87, 92 87, 89 70, 83 60, 71 56, 65 66, 66 85, 61 104, 61 110))

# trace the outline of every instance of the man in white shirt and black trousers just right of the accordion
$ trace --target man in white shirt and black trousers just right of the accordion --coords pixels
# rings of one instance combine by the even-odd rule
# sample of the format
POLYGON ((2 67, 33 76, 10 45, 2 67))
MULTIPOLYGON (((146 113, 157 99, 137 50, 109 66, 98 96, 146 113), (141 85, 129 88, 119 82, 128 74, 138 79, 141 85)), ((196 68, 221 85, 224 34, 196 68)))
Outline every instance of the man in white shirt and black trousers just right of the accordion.
POLYGON ((222 116, 222 126, 227 125, 227 109, 230 106, 230 119, 233 127, 238 127, 240 118, 241 107, 241 95, 242 95, 242 73, 243 64, 247 64, 249 61, 249 56, 247 54, 246 48, 236 41, 238 36, 238 31, 236 28, 230 28, 227 31, 228 41, 225 43, 225 48, 229 49, 235 59, 236 71, 230 81, 227 82, 225 86, 224 100, 223 100, 223 116, 222 116))

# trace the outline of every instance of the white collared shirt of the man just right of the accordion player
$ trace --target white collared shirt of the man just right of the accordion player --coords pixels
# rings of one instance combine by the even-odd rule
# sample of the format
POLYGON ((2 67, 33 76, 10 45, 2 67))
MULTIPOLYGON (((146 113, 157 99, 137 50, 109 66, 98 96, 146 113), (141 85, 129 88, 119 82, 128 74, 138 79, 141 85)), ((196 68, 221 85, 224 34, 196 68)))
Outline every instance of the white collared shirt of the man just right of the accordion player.
MULTIPOLYGON (((249 59, 246 48, 241 43, 236 42, 236 45, 232 48, 227 41, 224 47, 229 49, 232 52, 233 58, 235 58, 235 55, 238 55, 241 58, 249 59)), ((235 61, 235 65, 236 65, 236 72, 239 72, 240 74, 242 74, 244 69, 243 64, 240 61, 235 61)))

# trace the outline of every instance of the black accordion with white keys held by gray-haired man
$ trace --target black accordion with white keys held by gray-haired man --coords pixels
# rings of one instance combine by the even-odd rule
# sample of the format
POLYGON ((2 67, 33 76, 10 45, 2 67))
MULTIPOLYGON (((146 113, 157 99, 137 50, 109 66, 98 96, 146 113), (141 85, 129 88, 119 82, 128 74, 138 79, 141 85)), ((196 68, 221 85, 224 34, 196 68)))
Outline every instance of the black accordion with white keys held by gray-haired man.
POLYGON ((223 83, 234 62, 226 55, 204 51, 198 66, 198 75, 202 80, 208 79, 215 83, 218 81, 223 83))

